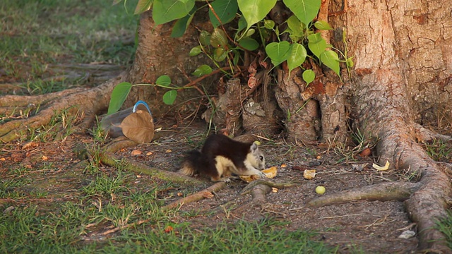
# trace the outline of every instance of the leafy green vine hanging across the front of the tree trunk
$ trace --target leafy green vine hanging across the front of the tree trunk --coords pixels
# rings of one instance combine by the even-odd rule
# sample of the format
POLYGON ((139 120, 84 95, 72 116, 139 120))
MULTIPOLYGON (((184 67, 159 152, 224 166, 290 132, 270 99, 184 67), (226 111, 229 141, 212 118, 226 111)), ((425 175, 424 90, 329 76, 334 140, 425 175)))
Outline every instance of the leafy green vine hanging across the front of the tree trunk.
MULTIPOLYGON (((121 0, 115 0, 114 4, 119 2, 121 0)), ((176 20, 171 36, 180 37, 184 35, 196 12, 208 8, 213 32, 201 31, 198 37, 199 45, 191 49, 189 56, 206 54, 215 68, 227 75, 233 75, 239 63, 245 62, 244 52, 255 56, 265 52, 266 56, 259 61, 262 66, 266 66, 267 58, 270 59, 273 68, 287 62, 289 72, 298 67, 303 68, 307 58, 331 68, 339 76, 340 62, 345 63, 347 69, 353 66, 352 57, 347 57, 346 49, 344 53, 334 49, 318 32, 333 29, 326 21, 316 20, 321 0, 283 0, 292 16, 278 25, 275 21, 266 19, 277 4, 277 0, 205 0, 206 4, 201 7, 197 7, 195 2, 196 0, 138 0, 135 14, 152 11, 155 25, 176 20), (237 24, 237 28, 234 35, 230 36, 223 25, 232 23, 233 20, 237 21, 234 23, 237 24), (285 30, 281 32, 281 28, 285 30), (287 39, 282 40, 282 37, 287 39), (278 42, 272 42, 272 38, 278 42), (342 60, 333 49, 340 52, 342 60), (224 71, 225 69, 230 70, 230 73, 224 71)), ((199 78, 213 71, 211 66, 203 64, 191 74, 199 78)), ((309 85, 316 76, 311 69, 304 69, 302 78, 309 85)), ((191 88, 172 85, 167 75, 157 78, 155 84, 135 85, 155 85, 169 89, 162 98, 165 104, 174 103, 177 90, 191 88)), ((131 83, 120 83, 114 88, 108 114, 119 110, 133 86, 131 83)))

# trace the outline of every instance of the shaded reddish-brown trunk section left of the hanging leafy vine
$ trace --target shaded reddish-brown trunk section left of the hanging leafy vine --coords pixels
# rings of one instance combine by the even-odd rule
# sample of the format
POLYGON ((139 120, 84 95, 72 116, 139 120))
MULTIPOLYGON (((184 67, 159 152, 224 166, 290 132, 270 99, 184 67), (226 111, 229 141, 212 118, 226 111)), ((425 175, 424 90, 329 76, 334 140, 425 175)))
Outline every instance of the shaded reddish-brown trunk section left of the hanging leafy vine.
MULTIPOLYGON (((210 60, 204 55, 189 57, 190 49, 198 46, 198 30, 212 30, 211 25, 206 23, 207 13, 198 13, 192 21, 193 25, 187 28, 182 37, 171 37, 174 23, 155 25, 148 11, 141 15, 140 27, 138 30, 138 48, 135 54, 135 61, 129 72, 129 82, 132 84, 149 83, 155 84, 160 75, 169 75, 172 83, 177 86, 184 86, 194 79, 190 76, 198 66, 209 64, 210 60)), ((206 78, 198 85, 216 83, 218 76, 206 78)), ((206 87, 209 87, 206 85, 206 87)), ((202 90, 202 89, 201 89, 202 90)), ((194 111, 199 104, 200 93, 194 89, 179 90, 174 106, 162 104, 162 96, 167 89, 136 86, 133 87, 124 108, 132 107, 138 99, 148 102, 153 115, 162 116, 174 106, 179 112, 194 111), (196 97, 198 97, 196 99, 196 97)), ((175 114, 173 111, 172 114, 175 114)))

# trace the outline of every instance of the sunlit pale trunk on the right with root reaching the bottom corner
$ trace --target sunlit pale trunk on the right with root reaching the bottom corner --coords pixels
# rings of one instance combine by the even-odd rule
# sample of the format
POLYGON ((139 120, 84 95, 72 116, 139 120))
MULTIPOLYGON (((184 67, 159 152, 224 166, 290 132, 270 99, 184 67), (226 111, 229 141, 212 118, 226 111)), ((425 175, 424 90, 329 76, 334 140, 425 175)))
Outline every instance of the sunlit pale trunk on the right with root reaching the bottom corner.
POLYGON ((427 109, 451 101, 451 10, 441 1, 348 1, 345 17, 335 24, 347 30, 355 56, 359 127, 380 138, 381 161, 422 176, 422 187, 405 201, 407 210, 418 224, 420 247, 444 252, 450 250, 433 226, 446 215, 452 186, 444 171, 451 169, 433 162, 416 143, 415 120, 422 123, 427 109))

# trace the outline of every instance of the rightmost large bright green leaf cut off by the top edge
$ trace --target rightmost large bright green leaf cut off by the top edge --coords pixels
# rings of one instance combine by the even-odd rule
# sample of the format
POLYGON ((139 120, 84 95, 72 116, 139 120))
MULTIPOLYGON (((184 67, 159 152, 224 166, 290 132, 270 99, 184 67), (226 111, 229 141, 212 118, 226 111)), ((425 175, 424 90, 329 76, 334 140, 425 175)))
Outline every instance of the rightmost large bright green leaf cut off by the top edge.
POLYGON ((306 26, 316 18, 321 4, 321 0, 283 0, 283 2, 306 26))

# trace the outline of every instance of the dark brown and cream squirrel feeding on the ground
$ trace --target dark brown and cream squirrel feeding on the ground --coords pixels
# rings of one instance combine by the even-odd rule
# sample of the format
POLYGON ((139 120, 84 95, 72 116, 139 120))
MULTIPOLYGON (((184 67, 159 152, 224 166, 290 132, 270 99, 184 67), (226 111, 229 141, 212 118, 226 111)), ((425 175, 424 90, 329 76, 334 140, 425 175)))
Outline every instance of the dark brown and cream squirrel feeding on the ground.
POLYGON ((201 149, 186 155, 179 173, 193 176, 195 173, 210 176, 212 181, 230 181, 230 176, 258 175, 265 169, 265 158, 256 143, 242 143, 226 135, 210 135, 201 149))

